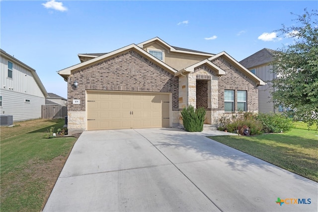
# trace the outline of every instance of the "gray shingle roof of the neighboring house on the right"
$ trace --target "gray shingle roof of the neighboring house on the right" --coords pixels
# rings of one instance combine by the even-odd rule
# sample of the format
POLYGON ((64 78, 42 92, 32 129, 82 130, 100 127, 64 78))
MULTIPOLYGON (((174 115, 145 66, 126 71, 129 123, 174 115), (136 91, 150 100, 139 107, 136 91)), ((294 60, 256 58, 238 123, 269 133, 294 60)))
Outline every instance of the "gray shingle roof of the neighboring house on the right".
POLYGON ((246 69, 268 64, 272 61, 275 50, 264 48, 251 56, 241 60, 239 63, 246 69))

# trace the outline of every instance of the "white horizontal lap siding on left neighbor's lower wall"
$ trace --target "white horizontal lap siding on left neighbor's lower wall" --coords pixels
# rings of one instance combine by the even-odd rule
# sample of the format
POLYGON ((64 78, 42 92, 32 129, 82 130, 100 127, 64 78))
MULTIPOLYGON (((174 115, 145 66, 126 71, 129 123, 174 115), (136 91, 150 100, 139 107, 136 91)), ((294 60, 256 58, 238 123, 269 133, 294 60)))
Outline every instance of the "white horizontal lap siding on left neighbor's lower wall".
POLYGON ((12 115, 13 121, 41 118, 41 105, 45 104, 45 98, 23 94, 16 91, 0 89, 2 96, 1 114, 12 115), (25 100, 30 100, 26 103, 25 100))

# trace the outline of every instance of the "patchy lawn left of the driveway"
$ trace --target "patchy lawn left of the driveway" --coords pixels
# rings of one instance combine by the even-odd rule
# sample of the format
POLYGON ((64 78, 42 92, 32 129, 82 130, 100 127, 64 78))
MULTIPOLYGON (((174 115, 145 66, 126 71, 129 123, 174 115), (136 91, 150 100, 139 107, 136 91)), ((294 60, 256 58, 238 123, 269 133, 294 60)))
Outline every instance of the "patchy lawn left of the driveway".
POLYGON ((44 139, 64 120, 31 120, 1 127, 1 211, 41 211, 76 138, 44 139))

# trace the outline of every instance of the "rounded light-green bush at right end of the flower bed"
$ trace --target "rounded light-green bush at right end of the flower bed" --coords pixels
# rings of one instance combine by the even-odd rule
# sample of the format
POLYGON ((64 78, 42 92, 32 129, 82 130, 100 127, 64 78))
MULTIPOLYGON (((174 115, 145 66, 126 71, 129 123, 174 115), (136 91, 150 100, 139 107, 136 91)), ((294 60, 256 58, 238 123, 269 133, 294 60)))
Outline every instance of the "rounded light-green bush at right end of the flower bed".
POLYGON ((263 123, 264 133, 281 133, 288 132, 294 128, 292 118, 277 113, 260 113, 257 120, 263 123))

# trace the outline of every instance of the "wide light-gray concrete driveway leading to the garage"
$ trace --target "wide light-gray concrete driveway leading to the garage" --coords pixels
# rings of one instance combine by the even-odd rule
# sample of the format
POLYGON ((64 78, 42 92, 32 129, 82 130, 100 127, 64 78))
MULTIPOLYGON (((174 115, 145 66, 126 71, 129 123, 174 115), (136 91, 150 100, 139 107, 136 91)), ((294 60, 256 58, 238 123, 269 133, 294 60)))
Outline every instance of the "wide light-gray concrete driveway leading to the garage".
POLYGON ((44 211, 318 211, 318 183, 204 137, 210 133, 219 132, 84 132, 44 211), (280 206, 277 198, 311 204, 280 206))

